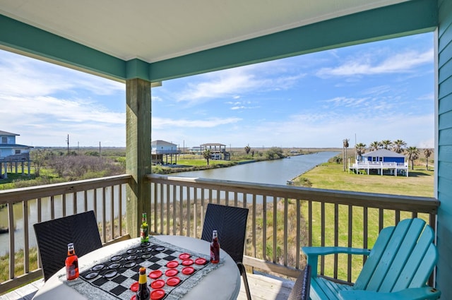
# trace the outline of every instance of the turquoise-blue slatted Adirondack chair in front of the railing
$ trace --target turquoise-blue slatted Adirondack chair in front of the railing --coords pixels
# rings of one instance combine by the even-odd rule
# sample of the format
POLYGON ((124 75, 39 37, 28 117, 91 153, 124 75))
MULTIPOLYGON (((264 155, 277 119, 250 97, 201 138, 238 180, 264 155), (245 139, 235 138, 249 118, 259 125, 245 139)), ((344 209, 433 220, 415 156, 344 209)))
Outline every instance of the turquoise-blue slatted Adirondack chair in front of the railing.
POLYGON ((427 286, 438 251, 432 227, 421 219, 406 219, 381 230, 374 248, 303 247, 311 265, 312 300, 439 299, 441 292, 427 286), (317 275, 319 256, 333 253, 369 257, 355 284, 338 284, 317 275))

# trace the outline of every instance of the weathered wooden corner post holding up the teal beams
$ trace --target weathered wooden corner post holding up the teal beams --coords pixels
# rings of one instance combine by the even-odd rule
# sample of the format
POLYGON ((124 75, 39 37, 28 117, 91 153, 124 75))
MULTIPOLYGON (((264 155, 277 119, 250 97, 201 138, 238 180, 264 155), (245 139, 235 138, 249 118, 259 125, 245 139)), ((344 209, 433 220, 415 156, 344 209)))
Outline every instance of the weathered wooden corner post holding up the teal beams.
POLYGON ((126 228, 139 236, 141 213, 150 220, 150 82, 126 81, 126 172, 132 176, 126 191, 126 228))

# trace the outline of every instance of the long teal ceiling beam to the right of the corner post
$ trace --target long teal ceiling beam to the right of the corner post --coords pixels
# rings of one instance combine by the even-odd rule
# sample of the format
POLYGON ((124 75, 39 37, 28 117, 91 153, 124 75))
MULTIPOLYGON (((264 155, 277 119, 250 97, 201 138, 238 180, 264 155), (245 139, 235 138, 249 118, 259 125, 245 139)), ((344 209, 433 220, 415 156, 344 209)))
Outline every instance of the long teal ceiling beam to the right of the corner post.
POLYGON ((412 0, 174 59, 157 61, 150 66, 150 80, 167 80, 352 44, 429 32, 437 25, 436 0, 412 0))

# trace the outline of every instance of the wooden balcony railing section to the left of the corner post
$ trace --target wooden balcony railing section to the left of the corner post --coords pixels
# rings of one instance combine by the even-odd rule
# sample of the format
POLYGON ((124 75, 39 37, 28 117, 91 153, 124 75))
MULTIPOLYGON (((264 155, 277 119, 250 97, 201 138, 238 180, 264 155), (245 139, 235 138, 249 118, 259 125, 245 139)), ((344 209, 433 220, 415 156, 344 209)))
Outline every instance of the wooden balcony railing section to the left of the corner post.
POLYGON ((130 178, 121 175, 0 191, 0 206, 6 205, 8 212, 8 241, 2 246, 8 245, 9 253, 0 258, 8 260, 4 271, 8 279, 0 280, 0 294, 42 276, 32 229, 36 222, 94 210, 104 243, 122 236, 125 184, 130 178))

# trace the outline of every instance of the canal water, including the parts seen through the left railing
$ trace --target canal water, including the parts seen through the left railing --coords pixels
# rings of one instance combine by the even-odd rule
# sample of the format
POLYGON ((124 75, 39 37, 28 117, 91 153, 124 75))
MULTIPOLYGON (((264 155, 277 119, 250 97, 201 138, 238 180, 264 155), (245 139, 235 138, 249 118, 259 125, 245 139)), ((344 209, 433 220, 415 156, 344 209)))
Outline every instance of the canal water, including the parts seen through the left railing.
MULTIPOLYGON (((287 184, 287 181, 295 178, 299 174, 309 171, 310 169, 316 167, 316 165, 323 162, 327 162, 331 157, 338 155, 338 152, 316 152, 309 155, 297 155, 290 158, 284 158, 282 160, 271 160, 264 162, 254 162, 249 164, 239 164, 234 167, 218 168, 218 169, 208 169, 195 172, 181 172, 173 173, 174 176, 185 176, 185 177, 198 177, 206 179, 222 179, 230 181, 244 181, 256 184, 287 184)), ((125 193, 125 188, 123 189, 125 193)), ((100 199, 100 195, 97 195, 100 199)), ((93 209, 93 193, 88 193, 88 210, 93 209)), ((109 199, 109 191, 107 191, 107 199, 109 199)), ((124 203, 126 197, 123 195, 122 207, 126 207, 124 203)), ((83 200, 78 201, 77 210, 83 211, 83 200)), ((98 201, 101 202, 101 201, 98 201)), ((62 216, 62 201, 61 198, 55 197, 55 217, 62 216)), ((97 208, 97 220, 102 221, 102 213, 100 205, 97 208)), ((109 221, 109 201, 106 203, 107 211, 107 222, 109 221)), ((72 210, 72 198, 70 195, 66 197, 66 214, 71 215, 72 210)), ((15 226, 15 248, 23 248, 23 213, 22 205, 14 205, 14 226, 15 226)), ((114 208, 115 214, 117 214, 118 209, 114 208)), ((28 234, 30 237, 30 247, 36 245, 35 232, 32 224, 37 222, 37 203, 35 200, 29 201, 28 205, 28 222, 29 229, 28 234)), ((117 215, 115 215, 117 217, 117 215)), ((49 198, 42 199, 42 221, 50 220, 50 200, 49 198)), ((0 227, 8 227, 8 210, 6 208, 0 209, 0 227)), ((8 234, 0 234, 0 256, 8 253, 9 239, 8 234)))

